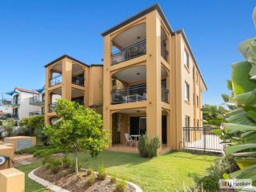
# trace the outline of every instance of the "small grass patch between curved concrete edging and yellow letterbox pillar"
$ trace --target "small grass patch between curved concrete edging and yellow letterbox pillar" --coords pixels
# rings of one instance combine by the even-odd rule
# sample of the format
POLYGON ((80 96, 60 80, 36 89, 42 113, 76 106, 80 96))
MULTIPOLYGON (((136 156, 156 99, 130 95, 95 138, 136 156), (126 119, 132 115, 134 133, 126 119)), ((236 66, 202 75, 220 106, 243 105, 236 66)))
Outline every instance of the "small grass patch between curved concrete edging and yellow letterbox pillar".
POLYGON ((28 178, 28 176, 27 176, 27 174, 29 174, 31 170, 34 170, 35 168, 37 168, 39 166, 42 166, 42 162, 34 162, 34 163, 31 163, 30 165, 15 167, 16 169, 21 170, 23 173, 26 174, 26 178, 25 178, 25 191, 26 192, 32 192, 32 191, 33 192, 46 192, 46 191, 49 191, 49 190, 46 190, 45 187, 41 186, 37 182, 34 182, 30 178, 28 178))

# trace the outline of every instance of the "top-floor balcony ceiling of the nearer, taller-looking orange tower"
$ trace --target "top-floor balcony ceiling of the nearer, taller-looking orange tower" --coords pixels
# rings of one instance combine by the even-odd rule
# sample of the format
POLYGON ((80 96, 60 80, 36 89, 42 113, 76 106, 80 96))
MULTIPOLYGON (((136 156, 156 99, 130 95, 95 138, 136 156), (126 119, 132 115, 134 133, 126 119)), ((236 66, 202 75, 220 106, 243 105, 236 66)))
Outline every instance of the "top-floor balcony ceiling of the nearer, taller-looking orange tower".
POLYGON ((142 23, 125 30, 121 34, 118 34, 115 38, 113 38, 113 44, 118 49, 122 49, 136 42, 141 42, 144 39, 146 39, 146 24, 142 23))

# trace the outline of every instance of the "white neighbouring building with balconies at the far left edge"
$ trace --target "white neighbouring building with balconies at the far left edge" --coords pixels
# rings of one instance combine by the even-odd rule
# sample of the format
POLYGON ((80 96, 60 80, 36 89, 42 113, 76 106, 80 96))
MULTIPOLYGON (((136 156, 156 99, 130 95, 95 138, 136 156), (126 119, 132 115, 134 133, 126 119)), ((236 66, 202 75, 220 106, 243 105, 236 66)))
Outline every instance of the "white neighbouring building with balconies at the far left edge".
POLYGON ((31 98, 40 95, 38 90, 26 90, 17 87, 5 94, 8 95, 8 98, 2 98, 0 106, 5 109, 8 118, 21 120, 30 117, 36 111, 42 110, 41 106, 30 105, 31 98))

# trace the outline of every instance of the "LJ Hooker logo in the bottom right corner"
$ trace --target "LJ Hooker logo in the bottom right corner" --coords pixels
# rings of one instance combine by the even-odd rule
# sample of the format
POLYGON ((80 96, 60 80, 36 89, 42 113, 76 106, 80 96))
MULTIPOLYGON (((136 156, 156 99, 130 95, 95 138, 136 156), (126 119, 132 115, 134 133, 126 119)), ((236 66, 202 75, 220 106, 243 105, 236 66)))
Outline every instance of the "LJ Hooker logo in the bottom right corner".
POLYGON ((251 179, 220 179, 218 183, 220 189, 242 189, 252 186, 251 179))

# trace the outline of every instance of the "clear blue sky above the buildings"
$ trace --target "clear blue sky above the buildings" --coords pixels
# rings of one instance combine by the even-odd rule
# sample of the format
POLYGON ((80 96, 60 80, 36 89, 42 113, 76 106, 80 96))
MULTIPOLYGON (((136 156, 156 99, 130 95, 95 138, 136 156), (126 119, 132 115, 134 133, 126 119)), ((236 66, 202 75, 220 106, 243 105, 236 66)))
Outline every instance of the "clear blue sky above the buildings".
MULTIPOLYGON (((102 63, 103 39, 111 26, 156 1, 0 1, 0 93, 44 85, 44 65, 62 54, 102 63)), ((229 93, 231 64, 242 60, 238 45, 255 35, 253 0, 158 1, 174 30, 183 28, 208 91, 203 102, 222 103, 229 93)))

